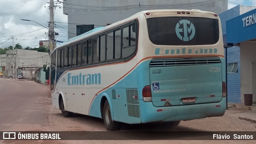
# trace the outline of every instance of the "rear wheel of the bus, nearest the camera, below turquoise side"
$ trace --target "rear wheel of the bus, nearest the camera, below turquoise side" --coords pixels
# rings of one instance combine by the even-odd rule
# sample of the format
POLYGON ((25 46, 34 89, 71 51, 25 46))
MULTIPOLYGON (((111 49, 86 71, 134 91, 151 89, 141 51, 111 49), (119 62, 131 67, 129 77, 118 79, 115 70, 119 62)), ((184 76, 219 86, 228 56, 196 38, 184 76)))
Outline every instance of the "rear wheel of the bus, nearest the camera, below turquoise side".
POLYGON ((108 101, 106 100, 103 108, 104 125, 108 131, 117 130, 119 122, 113 121, 111 117, 111 110, 108 101))

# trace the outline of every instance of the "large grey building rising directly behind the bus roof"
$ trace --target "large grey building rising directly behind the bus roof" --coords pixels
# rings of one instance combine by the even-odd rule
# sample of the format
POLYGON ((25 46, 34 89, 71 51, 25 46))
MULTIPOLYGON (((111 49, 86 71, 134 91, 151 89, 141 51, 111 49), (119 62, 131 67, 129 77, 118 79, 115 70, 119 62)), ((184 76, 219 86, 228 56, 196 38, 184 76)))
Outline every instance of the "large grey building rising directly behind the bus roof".
POLYGON ((128 18, 143 10, 199 9, 220 14, 228 10, 228 0, 65 0, 68 39, 128 18))

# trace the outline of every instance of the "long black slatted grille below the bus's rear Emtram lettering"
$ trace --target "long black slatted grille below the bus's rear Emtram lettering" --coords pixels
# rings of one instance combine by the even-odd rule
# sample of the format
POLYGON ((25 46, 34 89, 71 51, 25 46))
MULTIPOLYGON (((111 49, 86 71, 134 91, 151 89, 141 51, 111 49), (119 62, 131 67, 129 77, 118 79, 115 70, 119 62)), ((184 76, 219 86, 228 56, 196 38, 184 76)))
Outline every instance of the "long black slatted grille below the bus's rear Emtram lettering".
POLYGON ((212 65, 221 63, 220 59, 212 58, 197 58, 197 59, 156 59, 152 60, 149 67, 170 67, 183 65, 212 65))

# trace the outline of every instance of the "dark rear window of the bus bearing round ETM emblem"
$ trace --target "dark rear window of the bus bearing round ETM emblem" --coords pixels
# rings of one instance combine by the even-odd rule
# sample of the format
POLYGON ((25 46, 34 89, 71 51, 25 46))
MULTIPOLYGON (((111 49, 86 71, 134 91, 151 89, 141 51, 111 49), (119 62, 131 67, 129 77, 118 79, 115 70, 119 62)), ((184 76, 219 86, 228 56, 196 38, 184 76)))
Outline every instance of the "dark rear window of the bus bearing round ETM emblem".
POLYGON ((210 45, 219 40, 217 19, 198 17, 148 18, 148 35, 156 45, 210 45))

